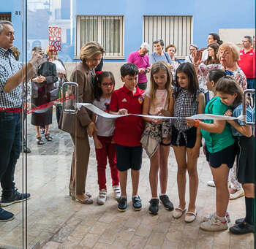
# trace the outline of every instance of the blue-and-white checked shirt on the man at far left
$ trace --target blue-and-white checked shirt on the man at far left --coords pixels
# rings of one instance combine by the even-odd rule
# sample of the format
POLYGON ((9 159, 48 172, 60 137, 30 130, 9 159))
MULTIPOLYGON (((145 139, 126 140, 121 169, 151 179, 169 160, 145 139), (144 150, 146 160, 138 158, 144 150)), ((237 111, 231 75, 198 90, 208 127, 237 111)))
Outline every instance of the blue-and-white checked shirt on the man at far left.
POLYGON ((4 85, 10 76, 18 72, 21 65, 12 55, 12 50, 0 47, 0 107, 17 108, 22 104, 22 85, 10 93, 4 92, 4 85))

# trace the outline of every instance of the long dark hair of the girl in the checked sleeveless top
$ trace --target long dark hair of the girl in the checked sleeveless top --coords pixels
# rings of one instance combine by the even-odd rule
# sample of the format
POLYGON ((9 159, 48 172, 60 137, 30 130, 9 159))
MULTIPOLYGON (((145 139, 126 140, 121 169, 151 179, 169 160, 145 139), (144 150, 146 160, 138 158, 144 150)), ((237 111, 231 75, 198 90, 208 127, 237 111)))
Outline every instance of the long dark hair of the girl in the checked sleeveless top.
POLYGON ((197 99, 197 90, 199 89, 199 85, 198 85, 197 74, 195 72, 194 66, 189 62, 185 62, 178 66, 178 69, 176 71, 176 83, 175 83, 176 91, 174 94, 174 98, 177 99, 178 93, 181 91, 181 87, 178 84, 178 74, 181 72, 184 72, 184 74, 186 74, 188 77, 188 80, 189 80, 188 91, 193 94, 194 101, 195 101, 197 99))

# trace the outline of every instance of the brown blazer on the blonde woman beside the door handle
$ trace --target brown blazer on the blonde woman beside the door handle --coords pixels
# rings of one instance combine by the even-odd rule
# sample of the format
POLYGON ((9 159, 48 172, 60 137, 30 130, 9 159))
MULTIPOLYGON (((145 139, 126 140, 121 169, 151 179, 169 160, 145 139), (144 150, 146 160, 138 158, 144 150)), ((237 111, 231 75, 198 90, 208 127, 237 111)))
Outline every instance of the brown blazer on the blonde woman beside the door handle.
MULTIPOLYGON (((78 102, 79 103, 91 103, 94 101, 94 85, 91 80, 91 72, 87 64, 83 61, 75 67, 72 72, 70 81, 78 83, 78 102)), ((68 95, 75 93, 74 87, 69 88, 68 95)), ((74 108, 75 99, 67 101, 66 108, 74 108)), ((60 123, 62 131, 67 131, 70 134, 78 137, 87 136, 87 125, 91 123, 91 111, 86 107, 81 107, 77 114, 64 113, 62 110, 60 123)))

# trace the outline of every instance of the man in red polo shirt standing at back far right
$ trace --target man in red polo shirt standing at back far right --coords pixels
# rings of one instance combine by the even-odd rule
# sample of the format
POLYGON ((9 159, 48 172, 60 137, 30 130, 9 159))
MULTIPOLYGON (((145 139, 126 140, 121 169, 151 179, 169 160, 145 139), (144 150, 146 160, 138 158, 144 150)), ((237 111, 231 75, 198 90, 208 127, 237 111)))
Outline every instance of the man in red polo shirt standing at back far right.
POLYGON ((244 37, 243 47, 244 48, 240 50, 238 66, 241 67, 246 76, 247 88, 252 89, 255 86, 255 51, 252 47, 252 37, 244 37))

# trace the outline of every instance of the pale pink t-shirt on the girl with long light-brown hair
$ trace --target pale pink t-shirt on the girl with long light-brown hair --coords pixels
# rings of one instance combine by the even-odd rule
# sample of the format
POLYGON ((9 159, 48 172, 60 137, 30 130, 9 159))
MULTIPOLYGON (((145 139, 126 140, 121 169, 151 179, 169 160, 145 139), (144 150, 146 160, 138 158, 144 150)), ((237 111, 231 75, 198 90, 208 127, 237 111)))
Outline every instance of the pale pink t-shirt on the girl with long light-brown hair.
MULTIPOLYGON (((150 99, 150 88, 146 89, 145 94, 150 99)), ((150 115, 155 115, 157 107, 162 107, 165 110, 168 110, 169 103, 167 101, 167 90, 159 90, 156 91, 156 101, 154 107, 150 106, 148 113, 150 115)))

